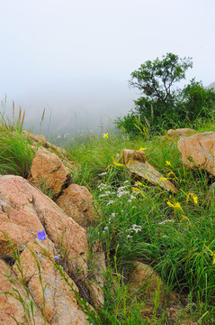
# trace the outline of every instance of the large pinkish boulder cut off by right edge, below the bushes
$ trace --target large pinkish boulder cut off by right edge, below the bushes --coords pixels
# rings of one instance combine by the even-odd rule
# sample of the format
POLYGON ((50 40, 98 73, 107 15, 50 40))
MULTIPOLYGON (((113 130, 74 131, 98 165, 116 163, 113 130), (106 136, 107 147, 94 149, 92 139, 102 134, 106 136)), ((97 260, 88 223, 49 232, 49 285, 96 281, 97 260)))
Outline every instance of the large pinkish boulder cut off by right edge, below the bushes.
POLYGON ((182 161, 189 168, 205 169, 215 176, 215 133, 204 132, 178 141, 182 161))

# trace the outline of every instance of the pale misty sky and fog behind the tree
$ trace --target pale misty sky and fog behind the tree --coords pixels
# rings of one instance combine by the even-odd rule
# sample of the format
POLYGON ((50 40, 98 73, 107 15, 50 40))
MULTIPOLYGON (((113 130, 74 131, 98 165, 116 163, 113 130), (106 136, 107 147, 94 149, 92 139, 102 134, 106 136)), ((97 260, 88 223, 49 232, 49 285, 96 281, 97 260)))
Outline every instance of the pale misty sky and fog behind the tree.
POLYGON ((166 52, 193 57, 187 82, 215 81, 214 0, 0 0, 0 10, 0 98, 35 129, 44 107, 56 134, 127 114, 130 73, 166 52))

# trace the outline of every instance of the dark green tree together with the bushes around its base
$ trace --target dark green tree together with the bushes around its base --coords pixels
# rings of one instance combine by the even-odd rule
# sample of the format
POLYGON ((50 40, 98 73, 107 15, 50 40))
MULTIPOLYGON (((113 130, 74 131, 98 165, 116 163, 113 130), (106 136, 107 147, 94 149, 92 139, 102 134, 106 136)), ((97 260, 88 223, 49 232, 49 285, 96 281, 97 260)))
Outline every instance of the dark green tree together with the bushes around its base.
POLYGON ((183 89, 175 84, 185 79, 185 72, 193 67, 191 58, 180 59, 167 53, 163 60, 148 60, 130 74, 130 86, 138 88, 141 97, 127 116, 118 117, 115 125, 130 134, 137 134, 135 119, 148 125, 153 133, 163 128, 187 127, 198 118, 209 118, 215 112, 215 93, 205 89, 194 79, 183 89))

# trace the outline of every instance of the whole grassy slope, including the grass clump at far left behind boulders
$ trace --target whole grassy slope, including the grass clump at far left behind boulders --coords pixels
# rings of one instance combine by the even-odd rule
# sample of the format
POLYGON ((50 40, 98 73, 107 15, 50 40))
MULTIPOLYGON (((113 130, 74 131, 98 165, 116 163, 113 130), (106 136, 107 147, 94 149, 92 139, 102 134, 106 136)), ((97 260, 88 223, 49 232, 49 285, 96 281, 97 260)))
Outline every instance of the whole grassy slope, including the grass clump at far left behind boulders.
MULTIPOLYGON (((214 131, 213 124, 199 127, 201 132, 211 130, 214 131)), ((6 129, 1 132, 0 145, 1 172, 25 176, 32 151, 20 128, 13 128, 13 134, 6 129), (13 168, 6 169, 9 162, 13 162, 13 168)), ((95 315, 89 311, 91 321, 98 325, 168 323, 164 306, 164 311, 159 306, 158 293, 154 314, 148 320, 142 312, 146 295, 129 290, 130 267, 134 261, 141 261, 157 270, 167 292, 174 290, 185 295, 187 312, 175 324, 189 317, 199 324, 215 323, 215 265, 211 255, 215 252, 214 200, 210 199, 213 193, 209 193, 213 178, 206 172, 184 168, 176 143, 159 137, 148 141, 142 135, 130 139, 128 135, 112 134, 108 139, 77 139, 69 155, 78 166, 74 181, 91 190, 96 201, 97 226, 89 229, 89 241, 94 245, 100 238, 108 262, 105 303, 95 315), (114 163, 123 148, 142 147, 147 148, 148 162, 175 183, 177 194, 171 195, 158 186, 134 184, 125 169, 114 163), (139 191, 134 191, 134 187, 139 191), (196 197, 197 203, 193 200, 196 197), (178 202, 181 209, 169 206, 167 201, 172 205, 178 202)))

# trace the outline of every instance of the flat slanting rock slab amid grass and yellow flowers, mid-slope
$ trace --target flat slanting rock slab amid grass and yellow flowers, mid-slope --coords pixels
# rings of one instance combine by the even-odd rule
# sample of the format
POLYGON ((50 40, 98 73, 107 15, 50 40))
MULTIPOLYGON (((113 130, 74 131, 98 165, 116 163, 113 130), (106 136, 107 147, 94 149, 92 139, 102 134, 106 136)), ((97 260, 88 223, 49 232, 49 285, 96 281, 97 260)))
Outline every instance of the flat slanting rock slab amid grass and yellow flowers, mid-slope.
POLYGON ((160 172, 146 161, 143 151, 124 149, 121 153, 122 163, 126 165, 134 180, 145 180, 149 183, 159 185, 161 188, 176 192, 174 184, 168 181, 160 172))

